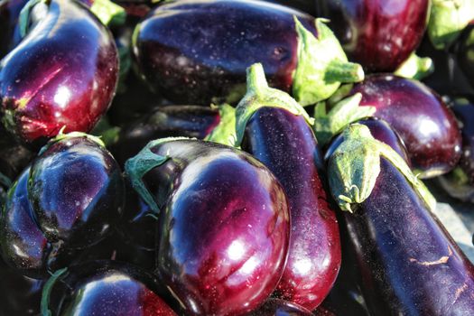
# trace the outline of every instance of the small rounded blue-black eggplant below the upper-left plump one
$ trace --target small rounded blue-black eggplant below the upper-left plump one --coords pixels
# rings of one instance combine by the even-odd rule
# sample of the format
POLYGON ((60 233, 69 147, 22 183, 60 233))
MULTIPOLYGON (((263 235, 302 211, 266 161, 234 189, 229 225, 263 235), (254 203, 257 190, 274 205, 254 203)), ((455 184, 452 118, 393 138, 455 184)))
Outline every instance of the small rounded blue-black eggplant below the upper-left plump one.
POLYGON ((50 142, 28 181, 34 218, 50 242, 83 248, 106 237, 120 218, 124 180, 105 147, 85 136, 50 142))

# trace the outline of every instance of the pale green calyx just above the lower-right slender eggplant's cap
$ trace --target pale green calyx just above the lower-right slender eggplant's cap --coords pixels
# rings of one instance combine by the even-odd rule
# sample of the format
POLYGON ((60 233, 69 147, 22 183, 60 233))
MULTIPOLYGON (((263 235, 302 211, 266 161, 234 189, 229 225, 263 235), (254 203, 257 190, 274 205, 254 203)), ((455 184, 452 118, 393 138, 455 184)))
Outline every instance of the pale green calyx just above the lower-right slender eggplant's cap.
POLYGON ((320 102, 314 108, 314 134, 321 146, 328 144, 332 136, 339 134, 347 125, 362 118, 373 116, 376 107, 360 107, 362 95, 355 95, 340 100, 327 111, 325 102, 320 102))

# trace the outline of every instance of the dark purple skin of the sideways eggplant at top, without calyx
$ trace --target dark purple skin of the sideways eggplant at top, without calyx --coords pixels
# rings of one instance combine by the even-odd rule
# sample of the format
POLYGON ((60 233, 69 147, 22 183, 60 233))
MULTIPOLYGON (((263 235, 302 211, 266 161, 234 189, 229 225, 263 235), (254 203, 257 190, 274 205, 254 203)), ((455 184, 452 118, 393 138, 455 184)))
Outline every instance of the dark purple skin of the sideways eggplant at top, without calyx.
POLYGON ((271 86, 289 91, 298 46, 293 15, 317 35, 311 15, 265 2, 160 5, 135 29, 136 66, 151 88, 177 104, 236 103, 255 62, 264 64, 271 86))

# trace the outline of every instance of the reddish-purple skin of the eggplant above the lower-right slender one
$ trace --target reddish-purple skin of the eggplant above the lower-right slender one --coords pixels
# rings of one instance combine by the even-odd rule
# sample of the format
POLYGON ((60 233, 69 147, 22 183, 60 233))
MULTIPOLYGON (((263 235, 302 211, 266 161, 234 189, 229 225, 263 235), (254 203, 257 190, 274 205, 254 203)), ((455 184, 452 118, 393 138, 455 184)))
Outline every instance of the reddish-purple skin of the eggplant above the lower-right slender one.
POLYGON ((351 93, 360 106, 376 107, 374 116, 390 124, 404 140, 412 166, 421 178, 450 172, 458 163, 461 136, 455 116, 423 83, 391 74, 367 76, 351 93))

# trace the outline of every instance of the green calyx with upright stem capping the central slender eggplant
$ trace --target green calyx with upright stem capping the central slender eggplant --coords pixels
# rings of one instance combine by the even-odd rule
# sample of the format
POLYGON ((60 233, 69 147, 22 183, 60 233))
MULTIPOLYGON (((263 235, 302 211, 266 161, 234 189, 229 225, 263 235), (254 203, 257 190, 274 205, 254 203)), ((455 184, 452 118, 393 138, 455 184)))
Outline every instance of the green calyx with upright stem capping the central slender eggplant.
POLYGON ((236 109, 236 146, 242 143, 247 121, 260 107, 284 108, 295 116, 303 116, 309 125, 313 124, 312 118, 289 94, 268 87, 264 67, 256 63, 246 70, 246 95, 240 100, 236 109))

